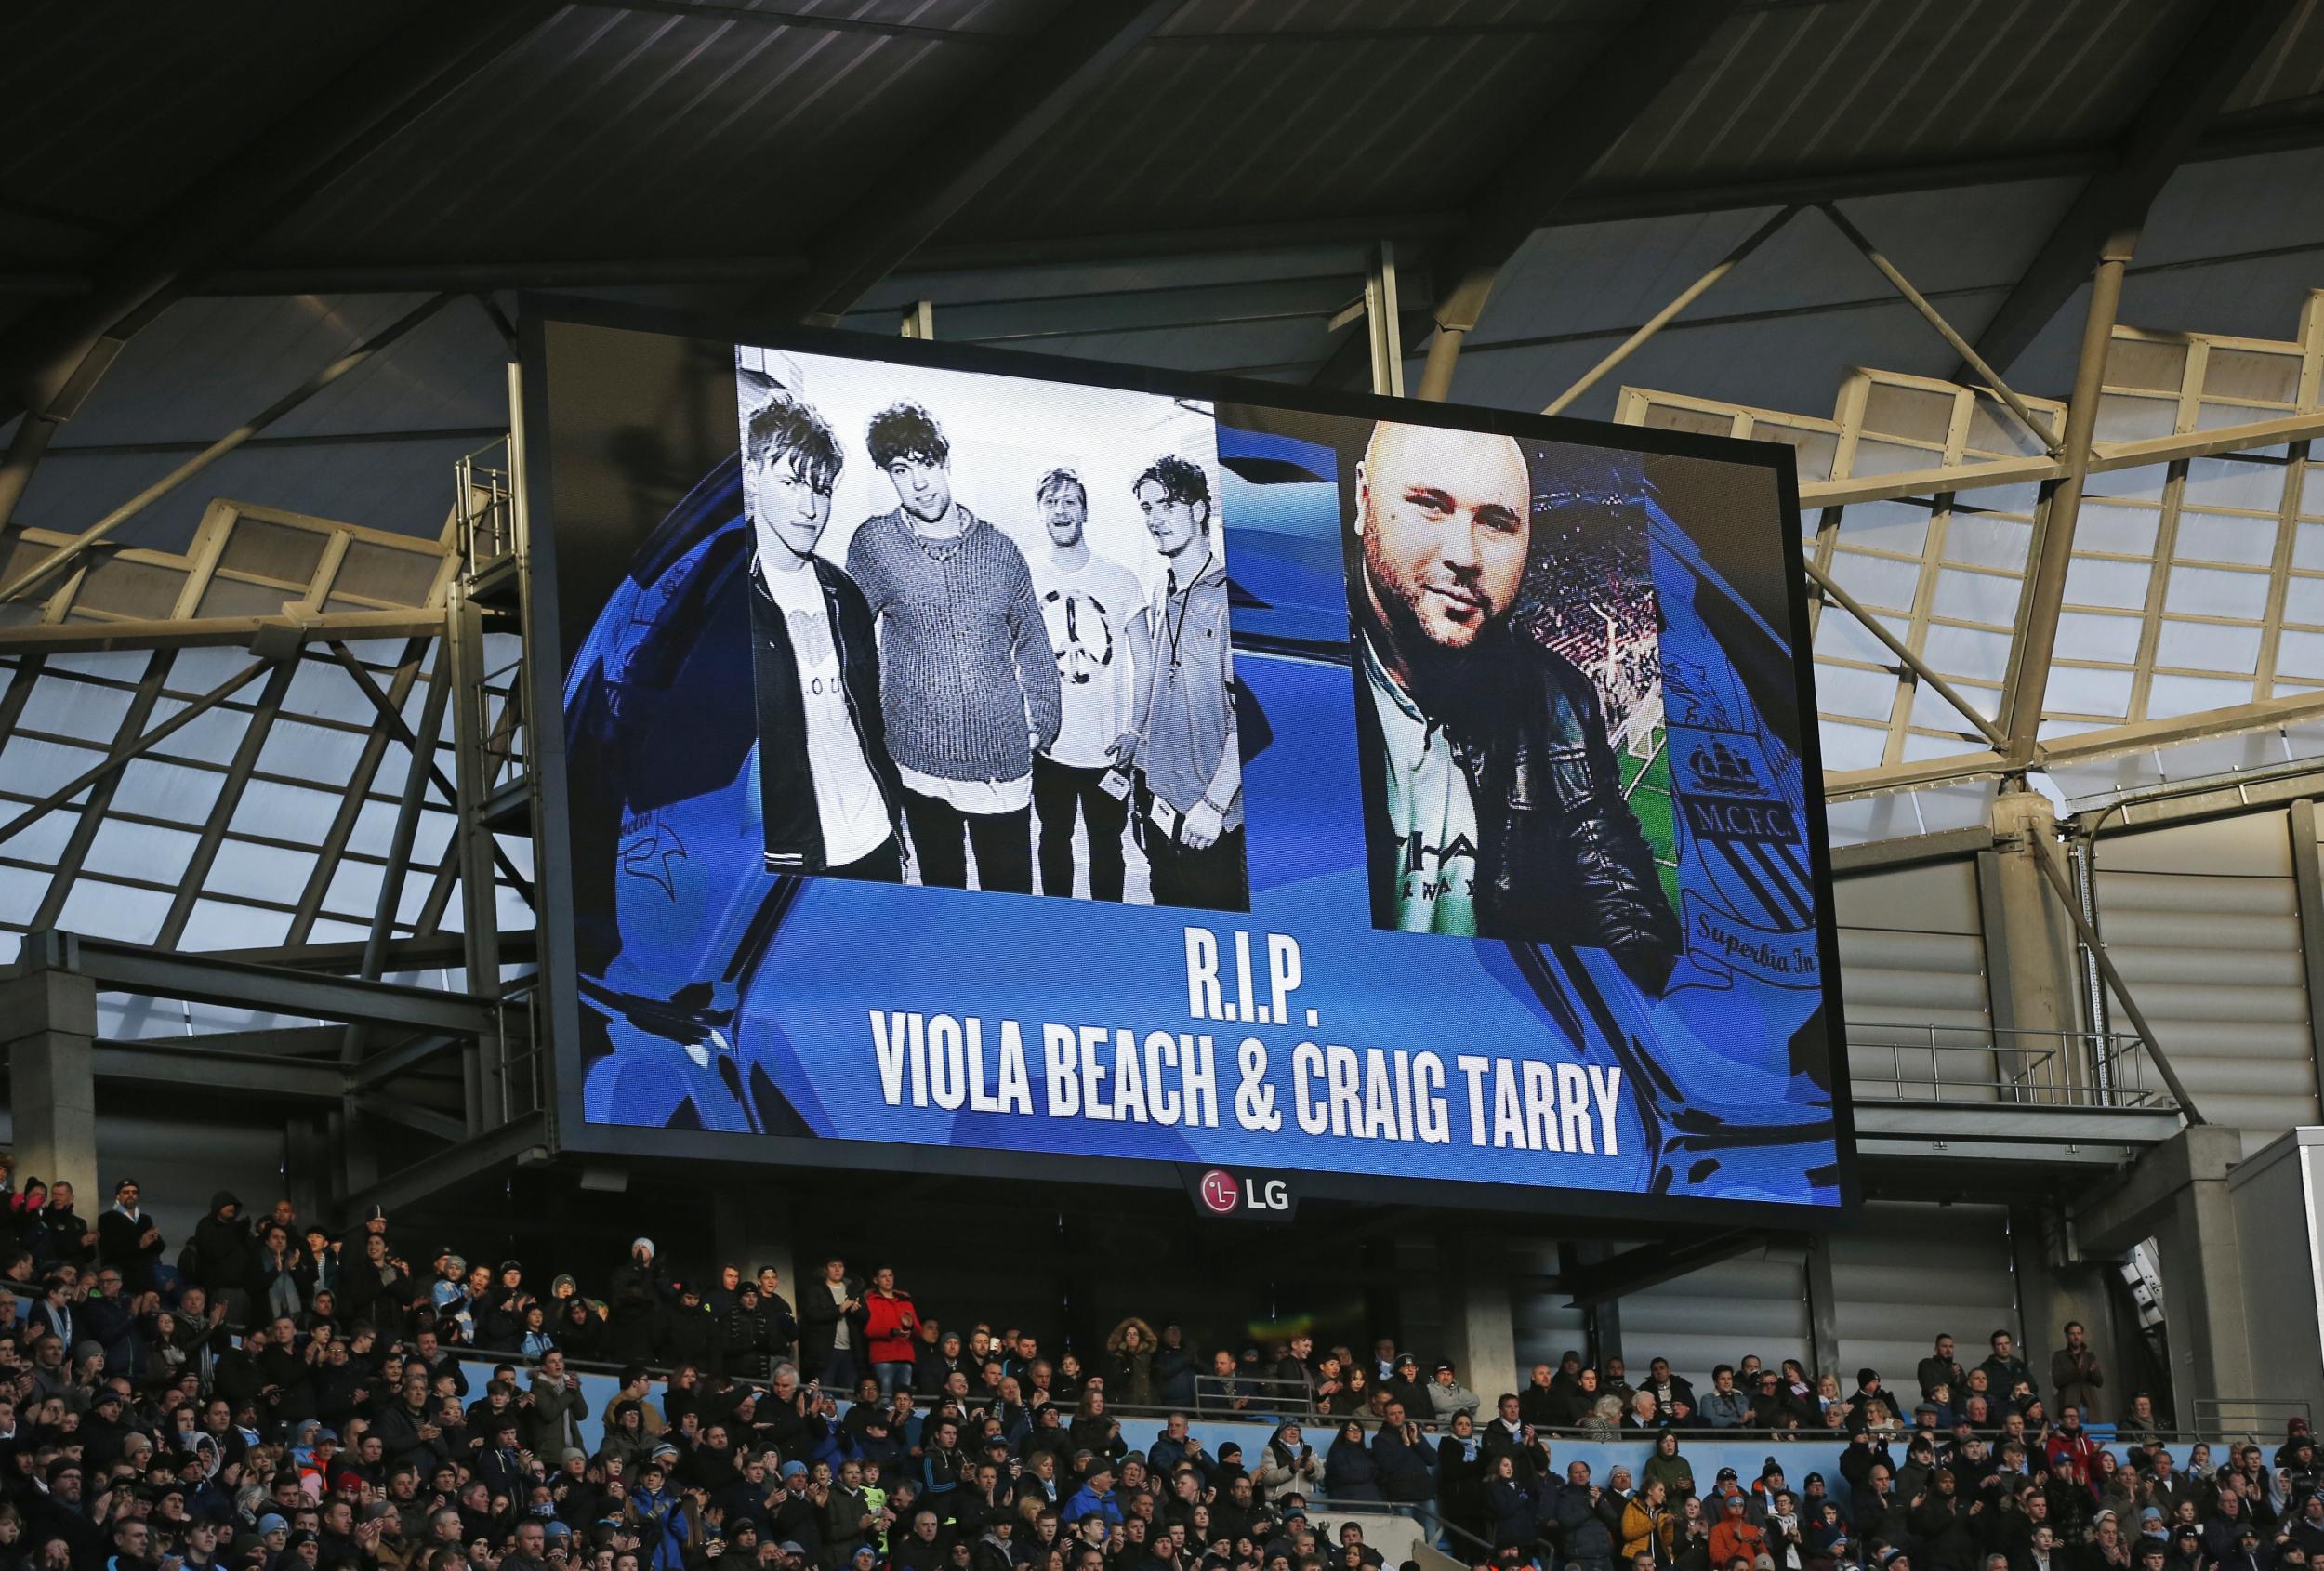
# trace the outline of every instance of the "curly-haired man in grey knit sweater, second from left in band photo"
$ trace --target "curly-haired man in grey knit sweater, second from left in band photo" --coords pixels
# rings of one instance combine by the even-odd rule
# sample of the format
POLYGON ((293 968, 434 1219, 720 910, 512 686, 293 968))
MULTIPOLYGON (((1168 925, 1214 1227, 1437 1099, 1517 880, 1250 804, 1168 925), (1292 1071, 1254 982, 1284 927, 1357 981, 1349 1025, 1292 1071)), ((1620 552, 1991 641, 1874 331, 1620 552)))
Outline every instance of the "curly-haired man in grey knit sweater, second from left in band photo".
POLYGON ((920 883, 1032 892, 1032 760, 1057 741, 1057 658, 1025 553, 953 500, 953 449, 913 402, 871 416, 897 507, 848 541, 881 632, 881 706, 920 883), (964 844, 962 844, 964 841, 964 844))

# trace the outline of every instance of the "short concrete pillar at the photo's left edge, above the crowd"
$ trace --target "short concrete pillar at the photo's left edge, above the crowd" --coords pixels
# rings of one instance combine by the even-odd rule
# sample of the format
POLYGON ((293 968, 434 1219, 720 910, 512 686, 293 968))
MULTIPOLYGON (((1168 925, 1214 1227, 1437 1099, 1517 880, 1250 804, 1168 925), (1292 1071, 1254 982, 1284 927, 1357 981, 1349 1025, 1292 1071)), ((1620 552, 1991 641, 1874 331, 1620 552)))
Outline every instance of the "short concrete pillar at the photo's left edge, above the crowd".
POLYGON ((0 1046, 7 1048, 16 1181, 67 1181, 84 1218, 105 1208, 98 1188, 98 988, 40 960, 0 978, 0 1046))

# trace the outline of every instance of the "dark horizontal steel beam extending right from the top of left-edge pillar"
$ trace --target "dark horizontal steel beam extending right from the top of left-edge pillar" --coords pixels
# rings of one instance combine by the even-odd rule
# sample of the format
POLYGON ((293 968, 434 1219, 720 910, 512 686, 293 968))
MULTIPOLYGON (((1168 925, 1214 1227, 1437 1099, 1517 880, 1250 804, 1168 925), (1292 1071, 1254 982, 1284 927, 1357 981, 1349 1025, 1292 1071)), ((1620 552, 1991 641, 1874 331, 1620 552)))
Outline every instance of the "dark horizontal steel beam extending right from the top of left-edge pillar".
POLYGON ((367 983, 209 955, 170 955, 137 944, 53 930, 26 934, 23 955, 40 957, 51 971, 88 976, 107 992, 232 1004, 307 1020, 376 1020, 462 1036, 500 1030, 500 1009, 493 999, 437 988, 367 983))

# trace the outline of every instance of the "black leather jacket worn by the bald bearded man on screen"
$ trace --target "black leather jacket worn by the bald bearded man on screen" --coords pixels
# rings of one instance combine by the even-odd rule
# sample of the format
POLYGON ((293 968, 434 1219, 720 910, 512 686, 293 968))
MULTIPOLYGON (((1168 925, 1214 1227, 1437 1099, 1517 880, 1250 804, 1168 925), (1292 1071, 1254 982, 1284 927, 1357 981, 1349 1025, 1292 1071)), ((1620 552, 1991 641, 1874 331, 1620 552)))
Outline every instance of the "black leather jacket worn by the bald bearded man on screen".
MULTIPOLYGON (((1476 799, 1476 925, 1487 939, 1606 948, 1659 992, 1678 962, 1678 918, 1622 799, 1597 688, 1562 655, 1506 627, 1469 655, 1462 711, 1446 716, 1476 799)), ((1404 841, 1387 823, 1380 716, 1355 646, 1355 732, 1364 760, 1371 923, 1397 925, 1404 841)))

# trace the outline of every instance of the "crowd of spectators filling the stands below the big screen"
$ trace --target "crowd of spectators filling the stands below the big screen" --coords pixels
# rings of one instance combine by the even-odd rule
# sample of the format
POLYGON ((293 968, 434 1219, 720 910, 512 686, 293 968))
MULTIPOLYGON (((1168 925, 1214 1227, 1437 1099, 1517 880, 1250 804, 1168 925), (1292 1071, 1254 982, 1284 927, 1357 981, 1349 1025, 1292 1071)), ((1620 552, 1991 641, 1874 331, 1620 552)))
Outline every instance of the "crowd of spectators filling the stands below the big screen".
POLYGON ((1487 1399, 1392 1341, 1204 1357, 1122 1320, 1050 1357, 839 1260, 792 1301, 774 1271, 674 1278, 637 1239, 602 1297, 535 1299, 521 1262, 411 1250, 381 1213, 335 1236, 221 1192, 172 1250, 135 1181, 93 1225, 74 1206, 7 1195, 0 1571, 1367 1571, 1360 1506, 1494 1571, 2324 1555, 2305 1422, 2273 1457, 2180 1457, 2133 1397, 2117 1457, 2082 1425, 2106 1371, 2080 1327, 2047 1383, 1996 1332, 1978 1366, 1938 1339, 1901 1397, 1871 1369, 1843 1392, 1745 1357, 1697 1392, 1569 1353, 1513 1392, 1485 1371, 1487 1399), (574 1369, 597 1360, 604 1413, 574 1369), (1267 1441, 1208 1446, 1218 1420, 1267 1441), (1701 1480, 1703 1432, 1780 1443, 1701 1480), (1573 1436, 1634 1462, 1594 1476, 1557 1455, 1573 1436))

